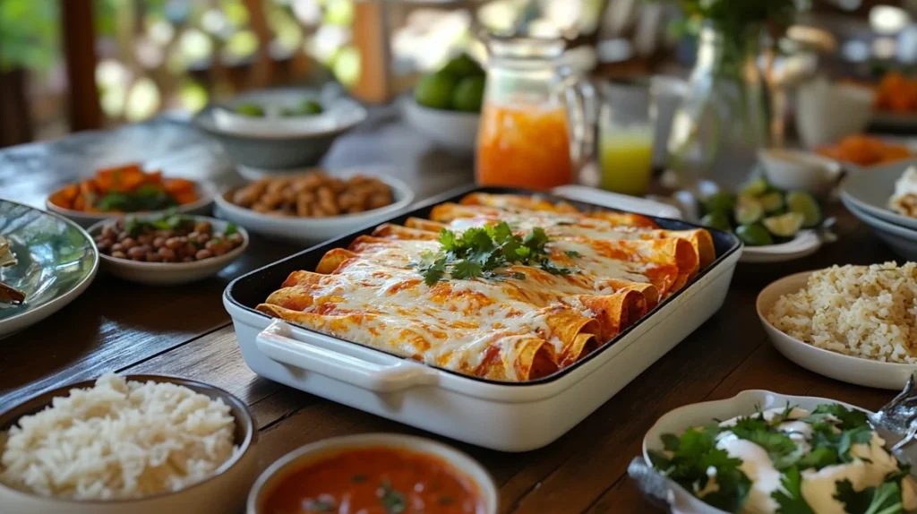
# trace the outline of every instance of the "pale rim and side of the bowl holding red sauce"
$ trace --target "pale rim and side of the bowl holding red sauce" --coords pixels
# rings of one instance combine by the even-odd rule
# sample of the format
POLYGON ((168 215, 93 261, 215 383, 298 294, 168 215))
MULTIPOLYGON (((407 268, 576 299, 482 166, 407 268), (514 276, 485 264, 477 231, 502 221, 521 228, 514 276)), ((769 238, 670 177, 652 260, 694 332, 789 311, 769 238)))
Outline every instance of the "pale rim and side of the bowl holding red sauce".
POLYGON ((394 433, 366 433, 335 437, 307 444, 282 456, 280 460, 264 470, 255 485, 251 487, 246 514, 265 514, 264 510, 260 509, 262 497, 269 493, 275 484, 288 473, 348 450, 380 447, 429 454, 445 460, 462 475, 470 478, 478 487, 484 505, 484 512, 480 514, 497 514, 497 487, 491 475, 477 461, 446 444, 436 443, 422 437, 394 433))

